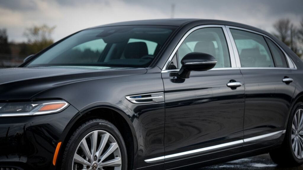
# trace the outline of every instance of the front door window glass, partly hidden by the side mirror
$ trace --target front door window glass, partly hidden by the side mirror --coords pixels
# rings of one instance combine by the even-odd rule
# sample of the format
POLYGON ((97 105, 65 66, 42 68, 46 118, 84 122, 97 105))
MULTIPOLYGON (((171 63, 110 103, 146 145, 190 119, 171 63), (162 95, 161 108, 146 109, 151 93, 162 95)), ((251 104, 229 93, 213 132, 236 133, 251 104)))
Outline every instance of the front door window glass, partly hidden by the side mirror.
POLYGON ((182 58, 191 52, 202 52, 214 56, 215 68, 231 67, 228 46, 222 28, 201 28, 183 41, 177 51, 178 68, 182 58))

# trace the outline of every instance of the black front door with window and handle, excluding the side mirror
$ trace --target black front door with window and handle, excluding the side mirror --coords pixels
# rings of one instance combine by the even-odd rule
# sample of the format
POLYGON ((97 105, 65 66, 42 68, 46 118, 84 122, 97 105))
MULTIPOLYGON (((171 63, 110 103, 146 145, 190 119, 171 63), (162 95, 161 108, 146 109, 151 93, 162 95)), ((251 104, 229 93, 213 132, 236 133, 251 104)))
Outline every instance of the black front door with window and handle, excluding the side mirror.
POLYGON ((240 152, 243 144, 244 84, 232 86, 243 83, 243 77, 239 68, 231 66, 233 53, 228 50, 224 29, 223 26, 193 31, 182 42, 167 70, 162 71, 165 93, 164 169, 240 152), (176 75, 181 67, 180 61, 191 52, 211 54, 217 60, 215 68, 192 71, 188 79, 179 78, 176 75), (219 150, 225 151, 209 154, 219 150), (180 159, 185 160, 178 161, 180 159))

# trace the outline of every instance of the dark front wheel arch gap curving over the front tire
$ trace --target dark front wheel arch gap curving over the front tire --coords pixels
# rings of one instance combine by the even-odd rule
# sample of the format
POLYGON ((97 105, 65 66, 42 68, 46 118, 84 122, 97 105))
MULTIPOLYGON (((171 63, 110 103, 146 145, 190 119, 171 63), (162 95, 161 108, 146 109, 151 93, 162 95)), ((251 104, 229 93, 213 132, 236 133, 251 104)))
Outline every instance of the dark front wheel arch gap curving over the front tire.
MULTIPOLYGON (((127 148, 128 155, 128 166, 133 167, 135 161, 135 153, 138 151, 138 140, 135 133, 135 128, 132 124, 131 117, 127 115, 122 109, 118 106, 115 106, 111 103, 102 102, 102 103, 92 103, 79 111, 80 115, 75 115, 75 117, 69 123, 69 127, 65 129, 66 136, 61 140, 62 146, 59 151, 59 157, 56 165, 59 165, 62 157, 63 148, 66 146, 69 137, 72 136, 74 130, 84 123, 88 119, 100 118, 105 119, 113 123, 122 134, 123 140, 127 148), (105 114, 106 113, 106 114, 105 114)), ((59 166, 56 166, 56 169, 59 166)))

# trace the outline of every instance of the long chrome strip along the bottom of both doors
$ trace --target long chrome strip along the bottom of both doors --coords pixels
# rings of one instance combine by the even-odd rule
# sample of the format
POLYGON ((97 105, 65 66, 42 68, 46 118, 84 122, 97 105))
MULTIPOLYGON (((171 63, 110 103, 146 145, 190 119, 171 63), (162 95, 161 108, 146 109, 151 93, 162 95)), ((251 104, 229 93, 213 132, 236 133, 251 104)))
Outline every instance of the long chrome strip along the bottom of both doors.
MULTIPOLYGON (((233 145, 245 144, 246 142, 252 142, 252 141, 256 141, 256 140, 260 140, 260 139, 266 139, 268 137, 275 136, 278 134, 280 134, 279 137, 281 137, 285 132, 286 132, 286 130, 281 130, 281 131, 272 132, 272 133, 268 133, 268 134, 260 135, 260 136, 255 136, 252 138, 242 139, 242 140, 238 140, 238 141, 234 141, 234 142, 228 142, 228 143, 223 143, 220 145, 209 146, 206 148, 200 148, 200 149, 195 149, 195 150, 191 150, 191 151, 180 152, 180 153, 171 154, 171 155, 165 155, 165 156, 161 156, 161 157, 157 157, 157 158, 146 159, 145 162, 155 163, 155 162, 160 162, 160 161, 182 158, 185 156, 199 154, 199 153, 203 153, 203 152, 210 151, 213 149, 220 149, 220 148, 225 148, 225 147, 229 147, 229 146, 233 146, 233 145)), ((279 137, 277 137, 277 138, 279 138, 279 137)))

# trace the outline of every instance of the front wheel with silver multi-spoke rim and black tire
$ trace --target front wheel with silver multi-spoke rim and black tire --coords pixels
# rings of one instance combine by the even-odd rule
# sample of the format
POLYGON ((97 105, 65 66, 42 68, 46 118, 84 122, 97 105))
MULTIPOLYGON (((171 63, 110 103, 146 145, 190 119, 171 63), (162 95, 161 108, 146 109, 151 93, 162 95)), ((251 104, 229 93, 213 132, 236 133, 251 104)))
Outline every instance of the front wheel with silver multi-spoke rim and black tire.
POLYGON ((66 145, 61 169, 126 170, 126 148, 118 129, 102 119, 79 126, 66 145))

